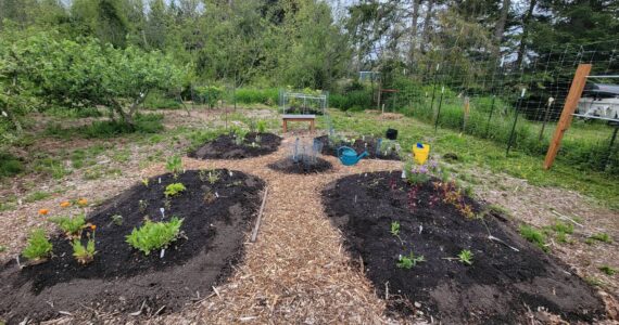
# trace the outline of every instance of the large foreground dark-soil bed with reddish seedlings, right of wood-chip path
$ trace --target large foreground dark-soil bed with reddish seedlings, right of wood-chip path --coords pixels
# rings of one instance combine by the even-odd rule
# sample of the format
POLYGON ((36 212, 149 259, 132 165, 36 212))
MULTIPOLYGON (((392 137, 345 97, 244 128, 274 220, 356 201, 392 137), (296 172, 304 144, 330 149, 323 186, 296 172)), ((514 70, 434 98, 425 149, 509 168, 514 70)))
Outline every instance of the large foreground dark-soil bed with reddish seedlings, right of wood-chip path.
POLYGON ((394 171, 345 177, 323 192, 327 214, 344 233, 353 260, 363 261, 379 296, 389 295, 390 311, 421 311, 443 324, 525 324, 531 322, 529 310, 542 318, 539 308, 569 322, 604 318, 595 291, 526 242, 507 219, 483 213, 483 206, 465 198, 484 216, 467 219, 437 200, 439 191, 431 183, 416 193, 412 187, 394 171), (402 242, 391 233, 394 221, 402 242), (472 251, 471 265, 456 258, 463 249, 472 251), (426 261, 409 270, 396 266, 400 256, 410 251, 426 261))

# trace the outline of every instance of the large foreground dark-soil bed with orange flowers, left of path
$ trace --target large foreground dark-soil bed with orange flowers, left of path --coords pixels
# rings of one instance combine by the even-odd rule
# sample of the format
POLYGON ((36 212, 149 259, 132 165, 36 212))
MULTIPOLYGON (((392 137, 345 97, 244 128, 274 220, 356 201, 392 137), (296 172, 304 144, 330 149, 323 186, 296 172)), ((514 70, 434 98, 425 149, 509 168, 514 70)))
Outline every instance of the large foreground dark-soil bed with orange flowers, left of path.
POLYGON ((245 234, 261 204, 265 183, 252 176, 217 170, 211 184, 204 172, 187 171, 151 178, 100 205, 87 221, 97 225, 94 260, 86 265, 73 258, 67 239, 52 239, 53 257, 20 271, 15 260, 0 269, 0 318, 18 323, 43 321, 89 308, 121 315, 178 310, 205 297, 226 280, 243 253, 245 234), (160 182, 161 179, 161 182, 160 182), (187 190, 165 208, 164 190, 181 182, 187 190), (122 224, 112 216, 122 216, 122 224), (182 236, 165 249, 144 256, 126 236, 152 221, 182 218, 182 236))

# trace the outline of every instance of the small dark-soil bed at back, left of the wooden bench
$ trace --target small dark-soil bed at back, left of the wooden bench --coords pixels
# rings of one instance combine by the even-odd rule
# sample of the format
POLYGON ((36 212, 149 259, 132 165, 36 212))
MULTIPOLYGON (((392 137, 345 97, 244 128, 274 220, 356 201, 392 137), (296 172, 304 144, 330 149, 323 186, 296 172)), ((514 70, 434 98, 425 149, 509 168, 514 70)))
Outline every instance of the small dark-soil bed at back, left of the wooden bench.
POLYGON ((233 135, 222 134, 188 156, 198 159, 242 159, 268 155, 276 152, 280 144, 281 138, 273 133, 248 133, 241 145, 235 142, 233 135), (256 136, 260 136, 260 141, 256 141, 256 136))

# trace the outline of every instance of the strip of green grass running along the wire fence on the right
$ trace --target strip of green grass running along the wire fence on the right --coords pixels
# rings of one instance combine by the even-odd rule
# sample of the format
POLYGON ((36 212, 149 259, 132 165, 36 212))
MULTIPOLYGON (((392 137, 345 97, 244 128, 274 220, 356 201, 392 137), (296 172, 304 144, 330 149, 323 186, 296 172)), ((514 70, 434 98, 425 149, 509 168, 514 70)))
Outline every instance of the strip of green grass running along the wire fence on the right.
MULTIPOLYGON (((431 125, 414 118, 381 120, 378 115, 366 113, 343 113, 331 109, 333 128, 339 132, 352 131, 358 134, 383 134, 387 128, 399 130, 399 141, 409 152, 414 143, 424 141, 431 145, 434 154, 455 153, 462 168, 482 167, 492 172, 505 172, 526 179, 541 186, 557 186, 578 191, 596 198, 602 205, 619 209, 619 178, 603 172, 586 171, 570 167, 565 161, 555 161, 551 170, 544 170, 543 156, 531 156, 513 150, 505 156, 505 144, 460 134, 450 129, 441 129, 434 134, 431 125)), ((326 119, 320 126, 327 128, 326 119)))

